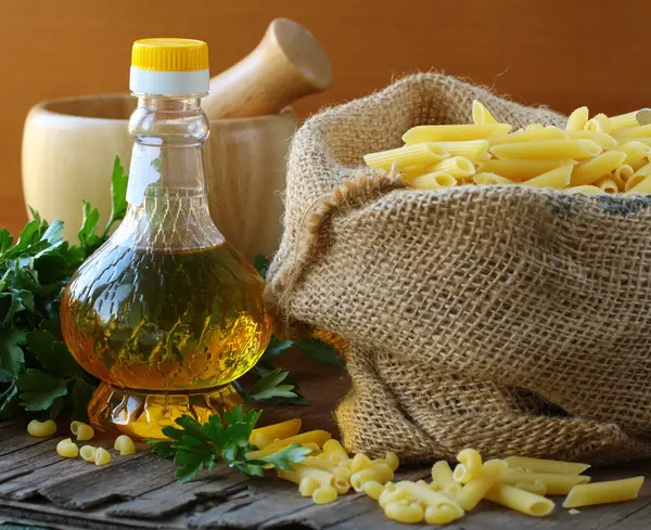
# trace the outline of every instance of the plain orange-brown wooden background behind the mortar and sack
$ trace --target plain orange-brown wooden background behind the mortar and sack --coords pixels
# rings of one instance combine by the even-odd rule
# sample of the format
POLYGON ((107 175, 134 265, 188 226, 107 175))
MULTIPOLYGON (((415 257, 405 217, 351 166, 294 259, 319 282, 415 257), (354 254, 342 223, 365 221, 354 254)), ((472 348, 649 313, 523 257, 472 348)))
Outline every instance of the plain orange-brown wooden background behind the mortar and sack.
POLYGON ((431 68, 565 112, 651 106, 649 0, 0 0, 0 227, 26 219, 20 151, 33 104, 125 91, 142 37, 204 39, 217 73, 277 16, 310 28, 334 66, 333 87, 296 105, 302 116, 431 68))

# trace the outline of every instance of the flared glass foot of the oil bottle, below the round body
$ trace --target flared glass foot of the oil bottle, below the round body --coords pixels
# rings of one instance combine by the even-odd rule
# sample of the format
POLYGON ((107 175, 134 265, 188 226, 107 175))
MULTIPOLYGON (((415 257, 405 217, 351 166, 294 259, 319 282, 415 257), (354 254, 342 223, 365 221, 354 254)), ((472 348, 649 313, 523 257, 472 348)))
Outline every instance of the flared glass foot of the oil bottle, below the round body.
POLYGON ((165 440, 163 427, 178 426, 176 418, 188 414, 205 423, 243 400, 232 385, 192 391, 133 390, 101 383, 88 404, 91 425, 104 432, 133 438, 165 440))

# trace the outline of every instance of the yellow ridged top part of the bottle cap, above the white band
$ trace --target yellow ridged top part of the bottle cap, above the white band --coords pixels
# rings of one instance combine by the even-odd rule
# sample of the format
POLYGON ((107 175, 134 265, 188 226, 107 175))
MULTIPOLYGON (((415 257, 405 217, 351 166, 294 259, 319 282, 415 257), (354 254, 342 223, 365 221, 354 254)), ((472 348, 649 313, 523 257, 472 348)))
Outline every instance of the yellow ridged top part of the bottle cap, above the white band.
POLYGON ((208 69, 208 46, 194 39, 140 39, 133 42, 131 66, 154 72, 208 69))

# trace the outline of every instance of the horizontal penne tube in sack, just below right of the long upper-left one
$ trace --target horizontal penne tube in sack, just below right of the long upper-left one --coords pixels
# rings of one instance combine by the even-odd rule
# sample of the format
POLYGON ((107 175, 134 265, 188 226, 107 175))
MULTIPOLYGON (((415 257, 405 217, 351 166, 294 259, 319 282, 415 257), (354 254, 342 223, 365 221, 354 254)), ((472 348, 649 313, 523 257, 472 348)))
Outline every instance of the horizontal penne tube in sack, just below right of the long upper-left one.
POLYGON ((591 158, 603 150, 592 140, 545 140, 541 142, 503 143, 490 147, 490 153, 499 159, 549 159, 591 158))

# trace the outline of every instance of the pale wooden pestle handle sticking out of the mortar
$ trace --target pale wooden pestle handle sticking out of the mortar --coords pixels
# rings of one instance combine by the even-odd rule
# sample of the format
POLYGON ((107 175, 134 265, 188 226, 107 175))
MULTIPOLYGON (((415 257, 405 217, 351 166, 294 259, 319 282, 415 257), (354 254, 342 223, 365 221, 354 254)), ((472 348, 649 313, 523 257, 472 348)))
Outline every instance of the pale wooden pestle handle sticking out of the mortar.
POLYGON ((209 119, 277 114, 331 81, 330 60, 312 34, 296 22, 276 18, 255 50, 210 79, 202 107, 209 119))

